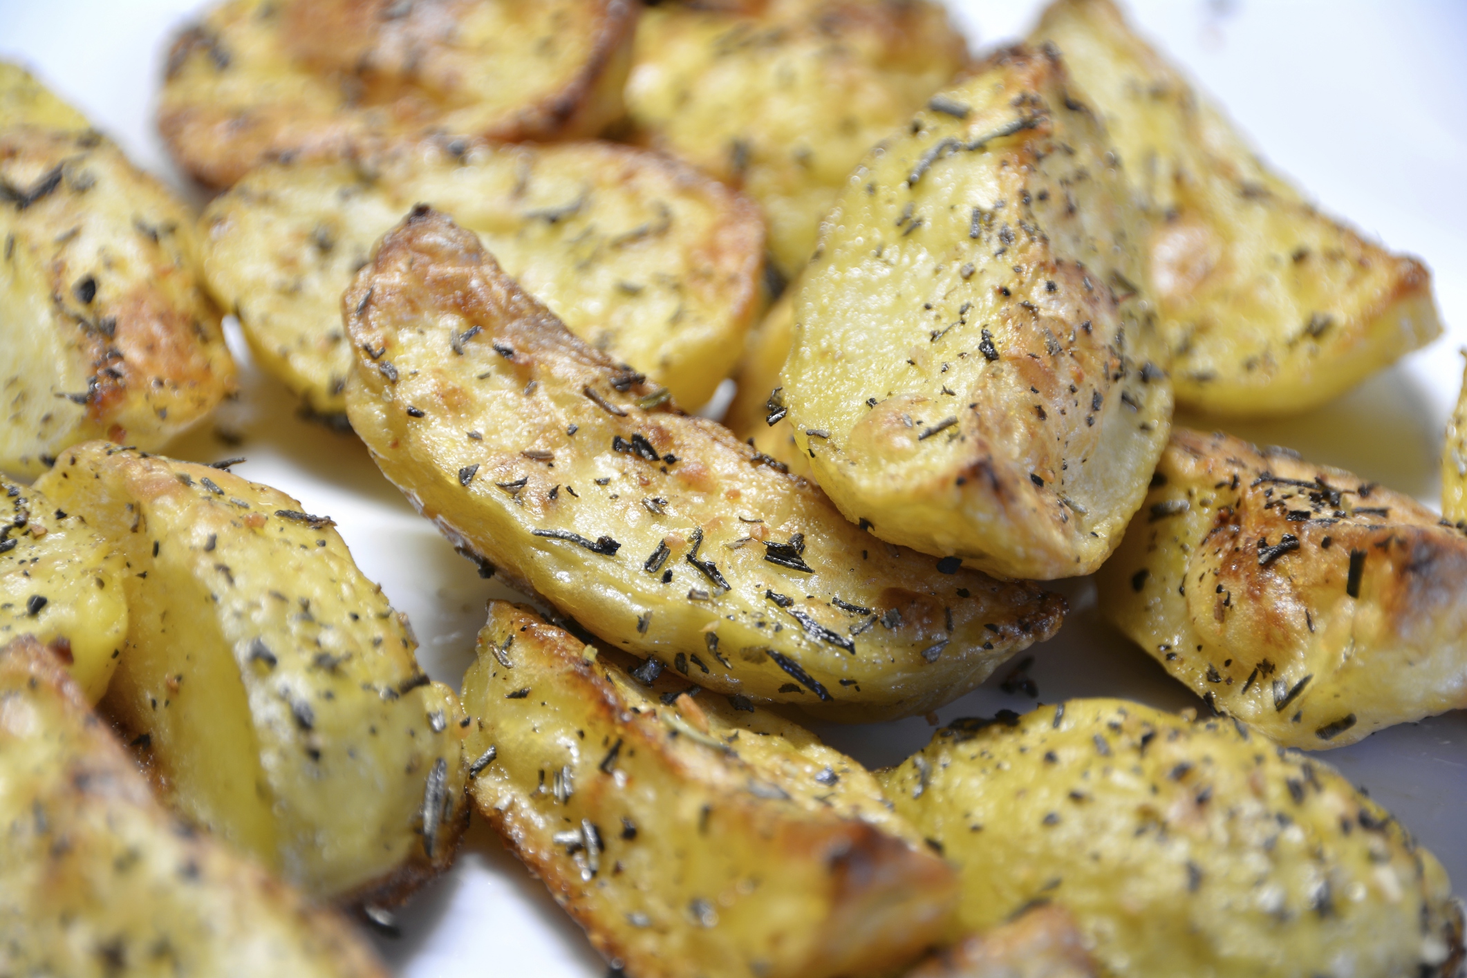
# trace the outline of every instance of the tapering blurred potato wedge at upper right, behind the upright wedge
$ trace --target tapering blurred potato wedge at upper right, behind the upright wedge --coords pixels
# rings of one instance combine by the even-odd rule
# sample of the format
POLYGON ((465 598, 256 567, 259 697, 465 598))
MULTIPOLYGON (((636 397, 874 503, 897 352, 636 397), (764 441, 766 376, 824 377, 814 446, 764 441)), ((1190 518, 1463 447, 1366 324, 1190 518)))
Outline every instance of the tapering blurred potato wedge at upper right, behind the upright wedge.
POLYGON ((1426 267, 1314 210, 1111 0, 1056 0, 1033 37, 1064 51, 1153 221, 1181 406, 1304 411, 1441 334, 1426 267))

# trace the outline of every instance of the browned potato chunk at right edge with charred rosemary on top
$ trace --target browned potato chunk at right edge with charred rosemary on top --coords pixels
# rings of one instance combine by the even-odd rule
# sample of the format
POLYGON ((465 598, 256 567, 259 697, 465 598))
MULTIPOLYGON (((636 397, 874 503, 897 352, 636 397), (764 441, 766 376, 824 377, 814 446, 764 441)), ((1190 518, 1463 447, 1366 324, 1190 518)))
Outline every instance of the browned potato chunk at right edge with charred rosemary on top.
POLYGON ((1467 707, 1467 535, 1284 450, 1175 431, 1097 585, 1166 672, 1288 746, 1467 707))

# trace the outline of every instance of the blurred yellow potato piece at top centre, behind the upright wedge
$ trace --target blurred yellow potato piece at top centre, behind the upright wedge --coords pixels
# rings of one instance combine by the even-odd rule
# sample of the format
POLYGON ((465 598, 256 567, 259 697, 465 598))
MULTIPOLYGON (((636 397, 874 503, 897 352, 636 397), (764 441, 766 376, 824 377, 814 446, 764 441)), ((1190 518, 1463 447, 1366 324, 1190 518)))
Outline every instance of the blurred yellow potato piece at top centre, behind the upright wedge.
POLYGON ((876 141, 967 65, 932 0, 663 3, 637 28, 626 107, 637 138, 742 188, 792 277, 876 141))

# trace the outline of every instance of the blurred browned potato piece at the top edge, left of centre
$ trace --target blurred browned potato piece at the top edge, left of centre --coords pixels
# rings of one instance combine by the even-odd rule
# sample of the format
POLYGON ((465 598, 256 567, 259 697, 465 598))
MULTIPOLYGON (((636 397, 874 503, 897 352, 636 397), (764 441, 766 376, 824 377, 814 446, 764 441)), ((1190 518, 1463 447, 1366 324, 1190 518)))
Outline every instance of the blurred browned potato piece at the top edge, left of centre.
POLYGON ((632 0, 226 0, 169 54, 158 129, 200 182, 399 136, 584 139, 621 117, 632 0))

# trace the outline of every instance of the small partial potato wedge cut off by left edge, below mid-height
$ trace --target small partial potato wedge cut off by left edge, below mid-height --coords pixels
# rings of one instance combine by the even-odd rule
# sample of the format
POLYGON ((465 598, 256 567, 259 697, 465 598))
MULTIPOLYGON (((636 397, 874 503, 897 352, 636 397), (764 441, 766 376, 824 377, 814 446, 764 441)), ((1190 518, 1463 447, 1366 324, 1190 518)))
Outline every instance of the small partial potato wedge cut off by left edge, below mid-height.
POLYGON ((128 636, 122 554, 81 516, 0 478, 0 645, 31 635, 97 702, 128 636))

